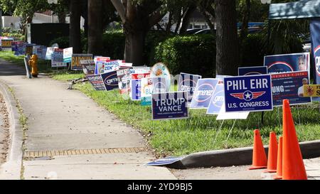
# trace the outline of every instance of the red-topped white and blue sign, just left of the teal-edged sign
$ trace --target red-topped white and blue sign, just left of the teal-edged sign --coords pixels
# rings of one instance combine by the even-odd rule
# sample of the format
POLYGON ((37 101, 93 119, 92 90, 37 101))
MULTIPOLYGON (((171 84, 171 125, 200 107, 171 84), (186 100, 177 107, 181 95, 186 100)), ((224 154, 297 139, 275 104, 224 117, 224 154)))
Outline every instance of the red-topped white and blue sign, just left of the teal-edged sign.
POLYGON ((130 98, 132 100, 141 99, 141 79, 145 77, 150 77, 150 72, 147 73, 132 73, 130 81, 130 98))

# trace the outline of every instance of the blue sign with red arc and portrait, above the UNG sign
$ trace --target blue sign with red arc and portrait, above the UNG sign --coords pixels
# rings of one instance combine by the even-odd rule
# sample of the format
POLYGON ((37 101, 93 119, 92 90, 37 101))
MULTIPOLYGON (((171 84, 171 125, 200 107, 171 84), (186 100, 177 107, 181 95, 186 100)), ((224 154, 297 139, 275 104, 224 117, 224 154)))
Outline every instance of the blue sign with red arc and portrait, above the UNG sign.
POLYGON ((265 56, 265 66, 269 73, 310 70, 310 54, 294 53, 287 55, 265 56))

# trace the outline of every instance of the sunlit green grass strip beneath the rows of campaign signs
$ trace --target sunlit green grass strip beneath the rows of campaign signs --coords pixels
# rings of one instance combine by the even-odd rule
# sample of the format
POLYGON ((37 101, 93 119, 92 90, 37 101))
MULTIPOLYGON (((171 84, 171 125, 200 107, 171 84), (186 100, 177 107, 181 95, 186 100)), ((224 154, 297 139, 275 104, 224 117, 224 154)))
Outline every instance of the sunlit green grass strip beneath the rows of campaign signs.
MULTIPOLYGON (((53 75, 53 79, 66 81, 83 76, 82 73, 53 75)), ((222 124, 222 121, 215 121, 216 116, 206 114, 204 109, 191 109, 189 119, 151 121, 151 107, 142 107, 139 102, 122 99, 119 90, 95 91, 90 83, 81 83, 74 88, 139 129, 158 156, 181 156, 198 151, 252 146, 254 129, 260 129, 265 145, 268 144, 270 131, 275 131, 277 136, 282 134, 281 107, 265 112, 264 124, 261 123, 261 112, 251 112, 246 120, 225 120, 222 124), (234 128, 226 141, 233 124, 234 128)), ((299 141, 320 139, 319 103, 294 106, 292 114, 299 141)))

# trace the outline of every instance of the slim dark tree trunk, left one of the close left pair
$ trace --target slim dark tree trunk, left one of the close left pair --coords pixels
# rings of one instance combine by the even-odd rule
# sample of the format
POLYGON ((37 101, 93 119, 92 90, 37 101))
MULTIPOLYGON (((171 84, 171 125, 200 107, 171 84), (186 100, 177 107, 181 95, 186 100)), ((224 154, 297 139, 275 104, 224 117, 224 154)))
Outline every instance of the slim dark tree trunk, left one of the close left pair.
POLYGON ((80 37, 81 7, 77 0, 70 0, 70 47, 73 53, 82 53, 80 37))

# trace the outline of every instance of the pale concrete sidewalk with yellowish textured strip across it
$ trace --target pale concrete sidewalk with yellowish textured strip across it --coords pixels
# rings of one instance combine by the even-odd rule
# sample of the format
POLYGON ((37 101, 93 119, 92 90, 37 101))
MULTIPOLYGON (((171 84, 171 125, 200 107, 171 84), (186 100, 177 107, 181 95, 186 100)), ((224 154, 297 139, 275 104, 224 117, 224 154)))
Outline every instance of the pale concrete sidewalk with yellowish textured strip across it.
POLYGON ((0 81, 14 90, 28 117, 25 179, 176 179, 144 166, 154 156, 139 132, 67 83, 27 79, 23 68, 0 60, 0 81))

